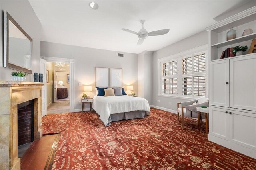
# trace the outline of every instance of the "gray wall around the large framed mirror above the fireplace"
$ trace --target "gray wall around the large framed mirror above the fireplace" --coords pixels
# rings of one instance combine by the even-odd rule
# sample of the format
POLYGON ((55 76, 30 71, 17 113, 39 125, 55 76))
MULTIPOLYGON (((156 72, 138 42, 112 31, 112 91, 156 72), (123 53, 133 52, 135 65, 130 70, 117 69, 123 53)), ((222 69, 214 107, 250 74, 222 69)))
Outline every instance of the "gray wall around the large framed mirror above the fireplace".
MULTIPOLYGON (((3 67, 4 43, 4 10, 26 31, 33 39, 33 72, 40 72, 40 33, 41 23, 28 0, 0 0, 0 80, 10 80, 11 72, 15 71, 3 67)), ((26 77, 26 81, 33 81, 33 74, 26 77)))

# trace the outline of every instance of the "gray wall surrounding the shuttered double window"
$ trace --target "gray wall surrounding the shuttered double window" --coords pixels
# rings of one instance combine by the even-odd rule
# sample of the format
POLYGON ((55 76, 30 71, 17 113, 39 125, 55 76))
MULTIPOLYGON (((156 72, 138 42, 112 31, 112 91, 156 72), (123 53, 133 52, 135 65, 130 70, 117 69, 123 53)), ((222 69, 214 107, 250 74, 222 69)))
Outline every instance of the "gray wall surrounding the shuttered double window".
MULTIPOLYGON (((178 41, 172 45, 159 49, 153 53, 152 61, 152 105, 164 107, 166 109, 177 110, 178 102, 188 101, 184 98, 170 98, 158 96, 158 59, 180 53, 201 45, 208 44, 208 31, 202 31, 198 34, 192 35, 186 39, 178 41), (160 100, 160 103, 156 102, 160 100), (171 105, 169 105, 171 102, 171 105)), ((191 100, 191 99, 190 99, 191 100)))

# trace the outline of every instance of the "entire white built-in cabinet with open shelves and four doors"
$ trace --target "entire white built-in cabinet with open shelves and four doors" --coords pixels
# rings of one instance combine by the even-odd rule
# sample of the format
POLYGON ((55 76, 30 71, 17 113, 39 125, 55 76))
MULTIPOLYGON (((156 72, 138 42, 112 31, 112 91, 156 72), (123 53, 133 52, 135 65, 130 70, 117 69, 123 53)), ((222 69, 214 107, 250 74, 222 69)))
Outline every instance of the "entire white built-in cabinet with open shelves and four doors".
POLYGON ((224 147, 256 158, 256 53, 220 59, 237 45, 256 39, 256 6, 207 27, 209 31, 209 135, 224 147), (236 39, 226 41, 233 27, 236 39), (253 33, 242 36, 245 29, 253 33))

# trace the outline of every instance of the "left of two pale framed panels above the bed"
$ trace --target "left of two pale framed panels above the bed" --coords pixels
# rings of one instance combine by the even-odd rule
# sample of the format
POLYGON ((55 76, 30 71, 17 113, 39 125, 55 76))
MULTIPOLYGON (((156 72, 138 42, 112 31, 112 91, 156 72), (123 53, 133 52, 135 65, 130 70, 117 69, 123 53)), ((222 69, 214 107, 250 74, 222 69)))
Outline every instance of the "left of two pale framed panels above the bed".
POLYGON ((109 68, 95 67, 95 87, 108 87, 109 68))

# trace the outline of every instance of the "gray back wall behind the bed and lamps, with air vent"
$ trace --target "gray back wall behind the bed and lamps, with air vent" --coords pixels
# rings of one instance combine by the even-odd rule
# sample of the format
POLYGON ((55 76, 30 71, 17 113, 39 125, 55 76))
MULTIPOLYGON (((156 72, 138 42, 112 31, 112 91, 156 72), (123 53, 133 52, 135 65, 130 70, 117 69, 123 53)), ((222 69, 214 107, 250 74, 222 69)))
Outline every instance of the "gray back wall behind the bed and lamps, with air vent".
POLYGON ((84 86, 78 83, 92 86, 92 92, 88 93, 91 97, 96 94, 95 67, 122 68, 124 88, 133 85, 138 93, 138 55, 124 53, 124 57, 117 57, 118 53, 122 52, 41 41, 41 56, 74 59, 74 109, 82 108, 78 101, 84 86))

